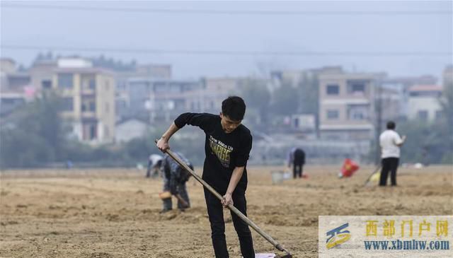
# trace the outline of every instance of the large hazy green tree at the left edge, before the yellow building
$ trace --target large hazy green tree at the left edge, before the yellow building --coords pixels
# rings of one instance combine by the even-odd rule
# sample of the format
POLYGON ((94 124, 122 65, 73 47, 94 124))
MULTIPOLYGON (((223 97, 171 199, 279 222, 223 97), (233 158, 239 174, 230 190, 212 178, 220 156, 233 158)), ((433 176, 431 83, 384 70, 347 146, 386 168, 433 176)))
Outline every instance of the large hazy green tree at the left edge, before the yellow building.
POLYGON ((25 105, 0 130, 1 166, 30 167, 61 158, 65 142, 60 99, 52 93, 25 105))

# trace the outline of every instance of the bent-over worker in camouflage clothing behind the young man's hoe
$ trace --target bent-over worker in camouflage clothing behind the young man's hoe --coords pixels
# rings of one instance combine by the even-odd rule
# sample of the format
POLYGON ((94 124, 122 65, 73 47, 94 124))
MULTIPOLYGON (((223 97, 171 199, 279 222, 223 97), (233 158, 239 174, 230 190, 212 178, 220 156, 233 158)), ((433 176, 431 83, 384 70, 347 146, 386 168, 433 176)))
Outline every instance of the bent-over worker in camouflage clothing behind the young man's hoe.
MULTIPOLYGON (((175 153, 175 155, 193 170, 193 165, 190 164, 189 160, 185 158, 183 154, 175 153)), ((190 200, 187 188, 185 187, 185 182, 189 180, 190 172, 180 167, 180 165, 173 160, 173 158, 168 156, 168 154, 166 154, 162 160, 161 170, 164 175, 164 192, 160 195, 164 202, 164 209, 162 209, 161 213, 173 209, 171 201, 172 195, 178 199, 178 209, 180 209, 180 211, 189 208, 190 200)))

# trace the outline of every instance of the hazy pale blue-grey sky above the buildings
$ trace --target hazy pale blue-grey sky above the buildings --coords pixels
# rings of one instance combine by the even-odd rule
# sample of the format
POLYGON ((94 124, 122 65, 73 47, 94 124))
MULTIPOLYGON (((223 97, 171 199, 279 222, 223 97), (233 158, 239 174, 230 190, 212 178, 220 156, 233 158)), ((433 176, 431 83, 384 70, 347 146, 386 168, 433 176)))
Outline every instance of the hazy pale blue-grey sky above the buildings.
POLYGON ((1 57, 29 66, 40 50, 65 47, 69 50, 52 52, 172 64, 178 78, 326 65, 439 76, 452 63, 452 6, 452 1, 1 1, 1 57), (275 11, 281 12, 270 13, 275 11))

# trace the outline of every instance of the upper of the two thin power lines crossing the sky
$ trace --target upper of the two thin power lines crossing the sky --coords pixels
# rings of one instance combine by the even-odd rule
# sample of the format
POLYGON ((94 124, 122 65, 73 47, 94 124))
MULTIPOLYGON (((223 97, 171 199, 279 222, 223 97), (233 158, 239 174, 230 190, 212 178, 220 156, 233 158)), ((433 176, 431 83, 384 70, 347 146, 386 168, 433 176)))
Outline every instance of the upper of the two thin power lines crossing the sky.
POLYGON ((3 8, 35 8, 47 10, 68 11, 106 11, 125 13, 185 13, 185 14, 221 14, 221 15, 277 15, 277 16, 365 16, 365 15, 452 15, 452 11, 242 11, 242 10, 214 10, 214 9, 176 9, 176 8, 115 8, 98 6, 61 6, 40 4, 2 3, 3 8))

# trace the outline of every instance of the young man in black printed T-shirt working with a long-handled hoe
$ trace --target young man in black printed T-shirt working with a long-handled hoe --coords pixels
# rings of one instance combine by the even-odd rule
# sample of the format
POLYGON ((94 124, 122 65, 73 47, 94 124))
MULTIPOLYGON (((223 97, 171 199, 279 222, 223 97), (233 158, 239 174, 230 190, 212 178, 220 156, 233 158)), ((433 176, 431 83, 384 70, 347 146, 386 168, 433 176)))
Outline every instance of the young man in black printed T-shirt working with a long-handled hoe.
MULTIPOLYGON (((202 179, 222 194, 219 201, 205 189, 207 213, 211 224, 211 238, 216 258, 228 258, 225 240, 223 207, 234 204, 244 215, 246 213, 246 165, 252 148, 250 130, 241 124, 246 104, 237 96, 222 102, 220 115, 185 113, 175 119, 157 142, 161 151, 168 148, 168 140, 178 129, 190 124, 205 131, 205 164, 202 179)), ((248 225, 231 212, 234 229, 238 234, 241 253, 244 258, 255 258, 253 240, 248 225)))

